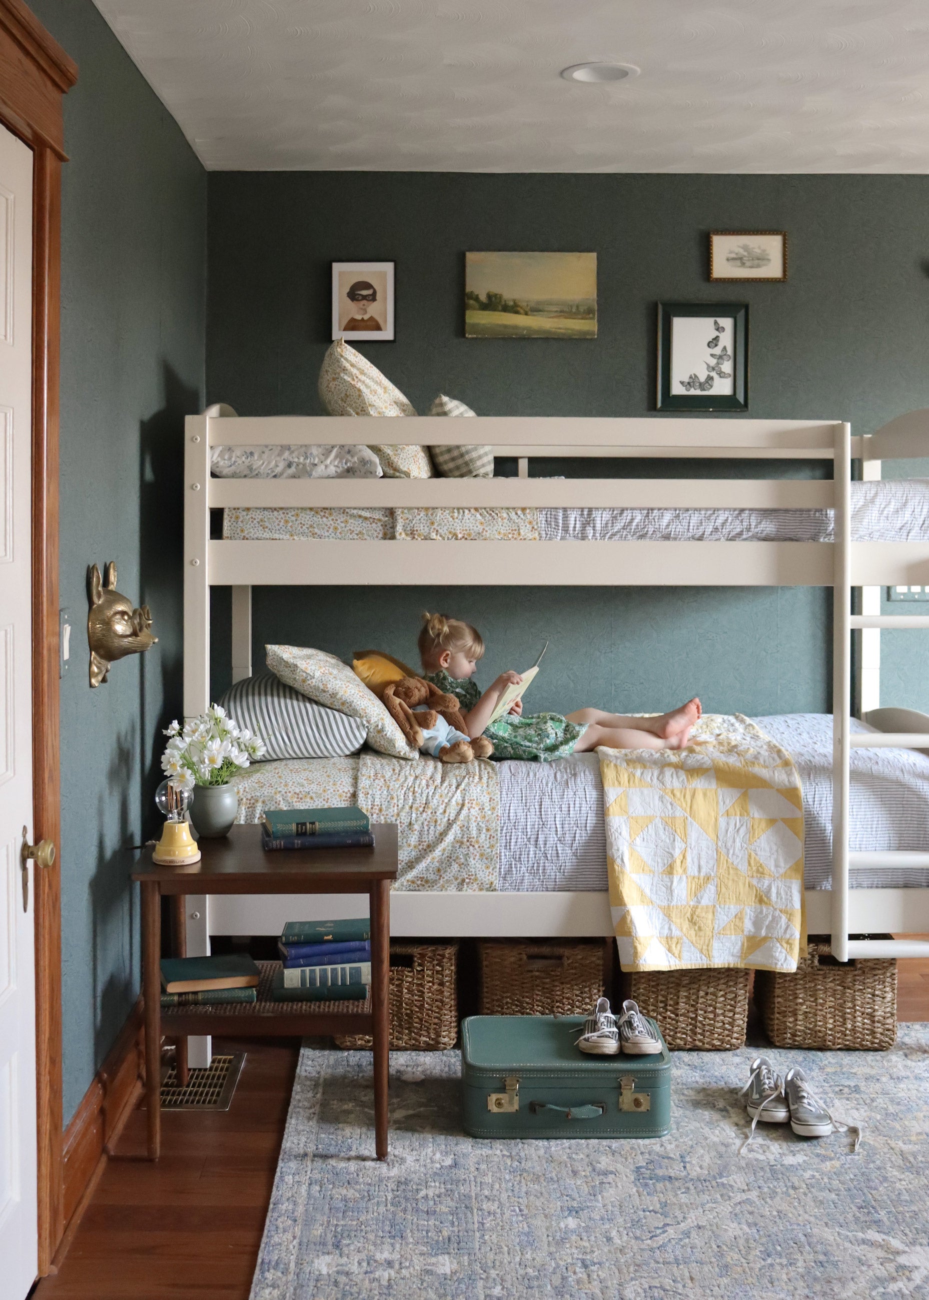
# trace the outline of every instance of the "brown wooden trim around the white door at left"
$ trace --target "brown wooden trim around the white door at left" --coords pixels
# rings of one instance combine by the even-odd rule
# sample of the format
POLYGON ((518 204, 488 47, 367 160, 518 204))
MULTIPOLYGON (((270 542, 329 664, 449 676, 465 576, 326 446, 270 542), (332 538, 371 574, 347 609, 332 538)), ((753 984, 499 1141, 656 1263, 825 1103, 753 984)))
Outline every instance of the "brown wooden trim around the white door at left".
MULTIPOLYGON (((59 723, 59 338, 61 98, 77 65, 22 0, 0 0, 0 122, 33 150, 33 833, 61 842, 59 723)), ((35 872, 39 1275, 64 1231, 61 867, 35 872)))

